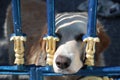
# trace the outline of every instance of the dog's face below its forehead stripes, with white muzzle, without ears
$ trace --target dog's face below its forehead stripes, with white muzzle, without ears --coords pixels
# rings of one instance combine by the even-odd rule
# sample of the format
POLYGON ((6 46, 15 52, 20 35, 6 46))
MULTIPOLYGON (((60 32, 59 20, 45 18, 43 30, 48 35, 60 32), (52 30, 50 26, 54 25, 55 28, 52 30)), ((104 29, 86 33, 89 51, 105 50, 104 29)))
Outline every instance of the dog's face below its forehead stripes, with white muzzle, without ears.
MULTIPOLYGON (((66 23, 67 24, 67 23, 66 23)), ((85 45, 82 37, 86 33, 86 24, 77 23, 57 27, 60 41, 54 55, 53 68, 56 73, 72 74, 83 67, 85 45)))

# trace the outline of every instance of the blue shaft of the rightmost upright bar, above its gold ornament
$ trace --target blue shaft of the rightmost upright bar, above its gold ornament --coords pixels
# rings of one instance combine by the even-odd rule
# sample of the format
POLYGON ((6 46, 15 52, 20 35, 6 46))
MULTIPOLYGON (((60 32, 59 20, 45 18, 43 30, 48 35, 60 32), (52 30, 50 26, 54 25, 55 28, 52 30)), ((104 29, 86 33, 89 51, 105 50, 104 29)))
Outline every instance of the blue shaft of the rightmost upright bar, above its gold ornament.
POLYGON ((87 36, 96 37, 96 15, 98 0, 89 0, 87 36))

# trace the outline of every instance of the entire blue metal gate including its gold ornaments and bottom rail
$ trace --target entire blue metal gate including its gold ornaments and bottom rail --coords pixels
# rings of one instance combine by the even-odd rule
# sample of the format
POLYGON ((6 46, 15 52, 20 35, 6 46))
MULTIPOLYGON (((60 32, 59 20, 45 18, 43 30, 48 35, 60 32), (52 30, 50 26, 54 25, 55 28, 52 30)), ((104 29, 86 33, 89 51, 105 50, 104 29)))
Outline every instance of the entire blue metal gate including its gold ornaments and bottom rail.
MULTIPOLYGON (((11 40, 14 40, 14 51, 15 51, 15 64, 16 65, 2 65, 0 66, 0 74, 2 75, 29 75, 30 80, 43 80, 44 76, 63 76, 63 74, 54 73, 52 69, 51 58, 47 60, 48 66, 35 66, 35 65, 24 65, 24 42, 26 41, 26 35, 21 30, 21 13, 20 13, 20 0, 12 0, 13 8, 13 21, 14 21, 14 34, 12 34, 11 40)), ((47 0, 47 15, 48 15, 48 34, 44 40, 49 44, 47 52, 53 56, 55 43, 58 38, 55 35, 55 14, 54 14, 54 0, 47 0), (52 44, 54 45, 51 45, 52 44)), ((89 37, 93 38, 94 44, 99 41, 96 35, 96 9, 97 0, 89 0, 89 20, 88 20, 88 32, 84 36, 84 41, 87 41, 89 47, 89 37), (94 40, 97 39, 97 40, 94 40)), ((86 68, 72 75, 86 76, 84 80, 120 80, 120 67, 109 66, 109 67, 95 67, 94 66, 94 47, 92 45, 91 52, 87 52, 86 68), (91 55, 92 54, 92 55, 91 55), (92 57, 92 58, 91 58, 92 57), (91 79, 87 79, 87 76, 92 76, 91 79), (100 77, 96 77, 100 76, 100 77)), ((70 76, 70 75, 68 75, 70 76)), ((89 77, 90 78, 90 77, 89 77)))

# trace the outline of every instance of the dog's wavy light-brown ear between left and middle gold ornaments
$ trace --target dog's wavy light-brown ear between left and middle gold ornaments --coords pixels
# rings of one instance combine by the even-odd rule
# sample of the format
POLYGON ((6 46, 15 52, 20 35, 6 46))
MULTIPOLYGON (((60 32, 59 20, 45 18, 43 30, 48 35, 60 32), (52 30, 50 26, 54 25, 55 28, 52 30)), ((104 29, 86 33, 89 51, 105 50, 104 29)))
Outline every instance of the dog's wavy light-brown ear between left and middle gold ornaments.
POLYGON ((42 36, 35 42, 30 48, 29 53, 26 55, 26 64, 35 64, 44 66, 46 63, 46 51, 45 51, 45 41, 43 36, 46 34, 47 28, 43 29, 42 36))

